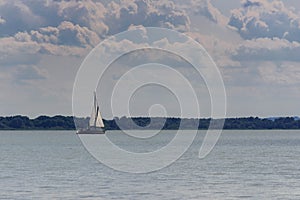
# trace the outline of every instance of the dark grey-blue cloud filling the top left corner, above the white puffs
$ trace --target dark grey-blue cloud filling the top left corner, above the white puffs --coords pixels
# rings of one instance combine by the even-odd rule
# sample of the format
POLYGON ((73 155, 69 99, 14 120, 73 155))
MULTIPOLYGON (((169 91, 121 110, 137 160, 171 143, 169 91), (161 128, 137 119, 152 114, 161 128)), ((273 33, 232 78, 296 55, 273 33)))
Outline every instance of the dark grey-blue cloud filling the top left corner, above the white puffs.
POLYGON ((103 24, 105 8, 99 2, 89 1, 5 1, 0 4, 2 19, 6 21, 0 35, 58 26, 70 21, 88 27, 99 35, 107 31, 103 24), (9 19, 9 20, 7 20, 9 19))

